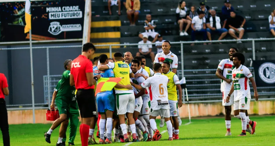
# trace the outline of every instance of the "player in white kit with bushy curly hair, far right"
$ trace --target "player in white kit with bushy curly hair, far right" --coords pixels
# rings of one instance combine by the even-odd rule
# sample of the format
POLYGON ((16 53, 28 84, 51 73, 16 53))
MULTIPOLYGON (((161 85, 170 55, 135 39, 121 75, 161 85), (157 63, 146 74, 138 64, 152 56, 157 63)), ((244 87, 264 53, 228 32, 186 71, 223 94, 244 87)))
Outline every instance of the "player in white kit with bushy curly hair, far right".
POLYGON ((254 99, 258 101, 259 95, 257 92, 256 83, 250 70, 244 66, 245 57, 242 53, 233 54, 233 66, 235 67, 232 70, 232 79, 233 84, 231 90, 226 97, 226 102, 230 102, 231 94, 234 91, 234 116, 242 120, 242 133, 239 136, 246 136, 246 124, 249 123, 252 127, 252 133, 255 133, 255 127, 257 122, 251 121, 246 115, 245 112, 250 107, 250 86, 248 84, 248 79, 251 81, 254 89, 254 99))

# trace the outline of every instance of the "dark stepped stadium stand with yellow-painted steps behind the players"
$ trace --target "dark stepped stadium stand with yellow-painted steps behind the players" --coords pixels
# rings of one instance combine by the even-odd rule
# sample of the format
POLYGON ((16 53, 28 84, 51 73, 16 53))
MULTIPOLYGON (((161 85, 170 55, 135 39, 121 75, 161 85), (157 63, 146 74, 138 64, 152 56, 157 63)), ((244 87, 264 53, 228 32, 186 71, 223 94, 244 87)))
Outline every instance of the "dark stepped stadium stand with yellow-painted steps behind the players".
MULTIPOLYGON (((155 20, 157 27, 155 31, 163 36, 164 40, 168 41, 191 41, 191 28, 188 30, 189 36, 179 36, 179 27, 176 23, 176 8, 178 6, 178 0, 140 0, 140 15, 136 26, 130 26, 126 9, 122 5, 120 16, 117 15, 117 7, 111 7, 112 14, 109 16, 107 1, 96 0, 92 1, 92 24, 99 23, 95 27, 92 25, 91 41, 96 44, 133 44, 138 43, 141 39, 138 34, 144 32, 144 20, 146 14, 151 14, 152 19, 155 20), (117 25, 114 25, 114 21, 117 25), (119 22, 118 22, 119 21, 119 22), (98 35, 93 36, 94 32, 100 32, 98 35), (102 34, 101 34, 102 33, 102 34), (107 33, 109 35, 103 35, 107 33), (100 37, 99 37, 100 35, 100 37), (115 37, 114 37, 115 36, 115 37), (108 43, 106 43, 108 42, 108 43)), ((198 0, 185 0, 186 7, 190 8, 195 5, 199 6, 198 0)), ((209 0, 205 2, 210 8, 214 8, 217 14, 221 14, 221 7, 224 6, 224 1, 221 0, 209 0)), ((231 0, 231 5, 234 7, 237 15, 241 15, 246 19, 244 25, 245 34, 243 39, 256 39, 256 38, 273 38, 269 31, 268 17, 273 8, 275 8, 275 1, 271 0, 231 0)), ((186 25, 186 24, 185 24, 186 25)), ((185 26, 184 26, 185 27, 185 26)), ((183 28, 184 29, 184 28, 183 28)), ((219 35, 213 35, 212 40, 217 40, 219 35)), ((202 40, 201 36, 196 37, 197 40, 202 40)), ((225 40, 232 39, 227 34, 225 40)), ((149 37, 149 41, 153 38, 149 37)), ((275 55, 275 42, 255 42, 256 60, 272 60, 275 55)), ((252 60, 252 43, 243 42, 236 44, 236 42, 226 42, 223 44, 202 45, 196 44, 190 46, 190 44, 184 44, 184 76, 187 80, 188 93, 190 99, 192 97, 200 97, 196 99, 207 99, 209 97, 220 99, 220 79, 215 76, 216 68, 221 59, 228 58, 228 49, 230 47, 236 47, 241 53, 245 54, 245 65, 250 67, 252 60), (197 69, 209 69, 209 70, 197 70, 197 69), (204 96, 200 96, 204 94, 204 96), (207 96, 205 96, 207 94, 207 96), (209 94, 209 96, 208 96, 209 94)), ((153 47, 153 51, 156 53, 156 48, 153 47)), ((178 55, 179 64, 181 64, 181 52, 180 45, 172 45, 171 51, 178 55)), ((102 49, 103 52, 109 50, 102 49), (104 51, 105 50, 105 51, 104 51)), ((130 51, 133 55, 136 54, 137 46, 116 46, 112 47, 112 51, 126 52, 130 51)), ((147 60, 151 62, 151 60, 147 60)), ((152 65, 147 65, 152 67, 152 65)), ((178 66, 178 70, 181 70, 181 66, 178 66)), ((251 68, 251 71, 254 72, 251 68)), ((178 72, 179 78, 181 78, 181 72, 178 72)), ((252 88, 252 86, 251 86, 252 88)), ((270 92, 272 89, 258 89, 259 93, 266 91, 270 92)), ((252 90, 253 92, 253 90, 252 90)))

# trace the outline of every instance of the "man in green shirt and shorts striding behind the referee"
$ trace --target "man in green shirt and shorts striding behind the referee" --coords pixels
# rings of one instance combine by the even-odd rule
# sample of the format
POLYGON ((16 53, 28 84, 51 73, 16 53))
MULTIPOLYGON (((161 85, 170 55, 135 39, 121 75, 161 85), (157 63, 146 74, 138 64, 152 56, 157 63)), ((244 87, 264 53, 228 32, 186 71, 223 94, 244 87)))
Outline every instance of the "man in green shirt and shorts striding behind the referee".
POLYGON ((55 100, 56 106, 59 109, 60 117, 54 121, 49 131, 44 134, 46 142, 51 143, 50 138, 51 138, 52 131, 62 123, 59 129, 59 138, 56 143, 56 146, 63 146, 62 140, 66 134, 66 129, 67 129, 69 117, 70 117, 70 104, 71 104, 70 100, 72 97, 72 92, 75 90, 74 87, 70 86, 71 63, 72 63, 72 60, 70 59, 64 62, 64 68, 66 70, 62 74, 60 87, 58 89, 59 91, 57 92, 56 98, 55 99, 53 98, 53 101, 55 100))

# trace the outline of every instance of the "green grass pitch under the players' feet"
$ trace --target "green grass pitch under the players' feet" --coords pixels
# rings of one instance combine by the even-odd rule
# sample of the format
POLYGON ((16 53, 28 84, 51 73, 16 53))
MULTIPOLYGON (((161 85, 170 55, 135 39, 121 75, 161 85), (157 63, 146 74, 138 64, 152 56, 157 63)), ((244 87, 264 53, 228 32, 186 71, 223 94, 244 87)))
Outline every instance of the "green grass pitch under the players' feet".
MULTIPOLYGON (((239 146, 239 145, 275 145, 275 116, 250 116, 250 119, 257 121, 256 135, 247 135, 246 137, 238 137, 241 133, 241 121, 232 117, 231 133, 232 136, 225 137, 226 127, 224 118, 206 118, 206 119, 183 119, 180 126, 180 140, 168 141, 168 133, 162 134, 162 139, 156 142, 136 142, 130 146, 142 145, 188 145, 188 146, 239 146)), ((159 120, 157 120, 159 125, 159 120)), ((58 139, 58 129, 55 129, 51 135, 51 144, 44 140, 44 133, 50 128, 50 124, 21 124, 10 125, 11 146, 54 146, 58 139)), ((166 130, 166 125, 159 128, 159 131, 166 130)), ((249 134, 249 133, 248 133, 249 134)), ((67 132, 68 135, 68 132, 67 132)), ((68 139, 67 139, 68 140, 68 139)), ((2 135, 0 133, 0 145, 2 143, 2 135)), ((68 145, 68 143, 66 143, 68 145)), ((79 129, 75 138, 75 145, 80 146, 79 129)), ((125 143, 111 144, 113 146, 123 146, 125 143)))

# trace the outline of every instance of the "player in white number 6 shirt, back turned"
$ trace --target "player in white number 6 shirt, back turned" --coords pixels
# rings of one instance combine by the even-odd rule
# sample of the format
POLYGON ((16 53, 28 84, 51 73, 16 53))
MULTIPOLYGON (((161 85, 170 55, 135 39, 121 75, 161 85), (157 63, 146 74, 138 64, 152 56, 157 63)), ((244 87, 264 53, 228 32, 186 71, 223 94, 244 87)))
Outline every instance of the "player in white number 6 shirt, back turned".
POLYGON ((173 140, 173 130, 172 130, 172 123, 170 121, 170 107, 168 102, 168 93, 167 93, 167 86, 169 83, 168 77, 161 74, 161 64, 155 63, 154 64, 154 76, 149 77, 145 80, 141 85, 137 85, 138 89, 146 88, 151 86, 151 89, 154 94, 152 94, 151 99, 151 112, 150 112, 150 125, 152 129, 154 129, 155 133, 153 136, 153 141, 159 140, 161 138, 161 134, 157 129, 156 124, 156 117, 162 116, 165 119, 169 139, 173 140))

